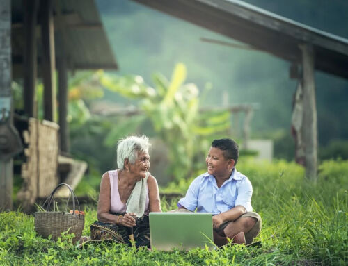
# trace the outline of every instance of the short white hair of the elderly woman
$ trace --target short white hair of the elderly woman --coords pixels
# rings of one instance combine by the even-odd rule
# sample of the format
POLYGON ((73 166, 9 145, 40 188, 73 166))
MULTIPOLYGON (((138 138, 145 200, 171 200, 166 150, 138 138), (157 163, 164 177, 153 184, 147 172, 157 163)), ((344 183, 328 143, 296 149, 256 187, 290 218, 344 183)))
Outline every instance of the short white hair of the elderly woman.
POLYGON ((138 151, 149 151, 151 144, 148 137, 142 135, 141 137, 129 136, 118 140, 117 147, 117 165, 118 169, 125 169, 125 159, 129 160, 129 163, 135 163, 138 151))

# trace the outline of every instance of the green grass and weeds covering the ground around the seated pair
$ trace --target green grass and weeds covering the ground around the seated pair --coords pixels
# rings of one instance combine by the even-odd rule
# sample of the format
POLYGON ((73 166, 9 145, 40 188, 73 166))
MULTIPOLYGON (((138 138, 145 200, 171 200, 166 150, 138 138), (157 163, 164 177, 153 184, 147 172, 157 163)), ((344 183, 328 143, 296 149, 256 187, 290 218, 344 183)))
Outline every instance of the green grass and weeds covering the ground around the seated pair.
MULTIPOLYGON (((171 252, 133 249, 119 244, 77 249, 71 236, 57 242, 36 235, 33 216, 0 213, 0 265, 347 265, 348 162, 330 160, 319 167, 317 183, 303 177, 299 165, 245 159, 237 169, 253 183, 253 208, 262 216, 257 240, 262 247, 228 245, 208 251, 171 252)), ((184 193, 189 181, 165 192, 184 193)), ((163 210, 177 200, 162 200, 163 210)), ((86 208, 84 235, 96 219, 86 208)))

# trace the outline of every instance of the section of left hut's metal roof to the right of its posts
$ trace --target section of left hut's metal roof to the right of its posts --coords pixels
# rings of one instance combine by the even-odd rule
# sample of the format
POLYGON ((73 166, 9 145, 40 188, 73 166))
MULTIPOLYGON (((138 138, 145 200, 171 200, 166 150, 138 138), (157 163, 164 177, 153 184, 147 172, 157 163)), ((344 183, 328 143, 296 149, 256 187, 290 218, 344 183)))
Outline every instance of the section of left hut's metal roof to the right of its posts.
POLYGON ((113 51, 94 1, 61 0, 56 2, 60 3, 55 6, 56 17, 60 19, 58 13, 60 6, 61 22, 63 22, 62 26, 68 40, 64 44, 68 47, 72 67, 75 69, 117 69, 113 51))

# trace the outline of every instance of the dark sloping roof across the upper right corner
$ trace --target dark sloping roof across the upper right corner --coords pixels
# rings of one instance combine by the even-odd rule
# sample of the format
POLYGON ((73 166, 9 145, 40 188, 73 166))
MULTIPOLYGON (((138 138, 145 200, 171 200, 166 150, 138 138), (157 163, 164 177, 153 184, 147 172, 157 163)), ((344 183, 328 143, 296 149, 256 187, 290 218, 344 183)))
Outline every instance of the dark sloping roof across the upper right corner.
POLYGON ((132 0, 185 19, 292 63, 313 44, 315 69, 348 78, 348 40, 238 0, 132 0))

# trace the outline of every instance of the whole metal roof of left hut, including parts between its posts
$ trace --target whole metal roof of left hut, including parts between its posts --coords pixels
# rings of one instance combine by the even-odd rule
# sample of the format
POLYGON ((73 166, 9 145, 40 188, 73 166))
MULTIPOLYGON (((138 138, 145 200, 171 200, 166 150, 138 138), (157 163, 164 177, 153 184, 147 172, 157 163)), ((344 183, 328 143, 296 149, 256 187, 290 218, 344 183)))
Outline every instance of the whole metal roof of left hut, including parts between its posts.
MULTIPOLYGON (((22 65, 24 46, 23 3, 12 1, 13 64, 22 65)), ((38 23, 39 24, 39 23, 38 23)), ((56 58, 63 55, 70 69, 118 69, 94 0, 54 1, 56 58)), ((37 36, 40 37, 38 26, 37 36)), ((38 60, 41 42, 38 38, 38 60)), ((40 70, 40 69, 38 69, 40 70)), ((14 76, 16 76, 14 74, 14 76)), ((18 76, 18 75, 17 75, 18 76)))

